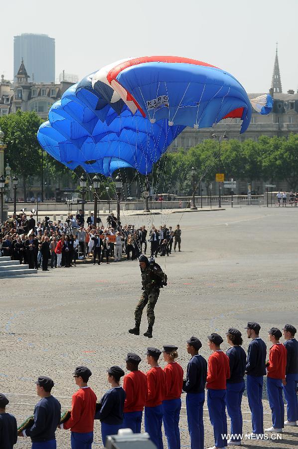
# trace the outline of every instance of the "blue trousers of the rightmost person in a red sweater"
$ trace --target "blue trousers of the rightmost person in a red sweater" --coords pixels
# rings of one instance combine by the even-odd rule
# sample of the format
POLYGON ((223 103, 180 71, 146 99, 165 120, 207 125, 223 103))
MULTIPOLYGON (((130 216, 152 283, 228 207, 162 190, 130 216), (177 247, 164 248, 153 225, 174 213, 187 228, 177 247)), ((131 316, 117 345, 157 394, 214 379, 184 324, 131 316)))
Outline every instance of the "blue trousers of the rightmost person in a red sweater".
POLYGON ((282 379, 267 377, 267 394, 271 408, 272 424, 275 429, 283 429, 285 420, 285 406, 283 400, 282 379))

